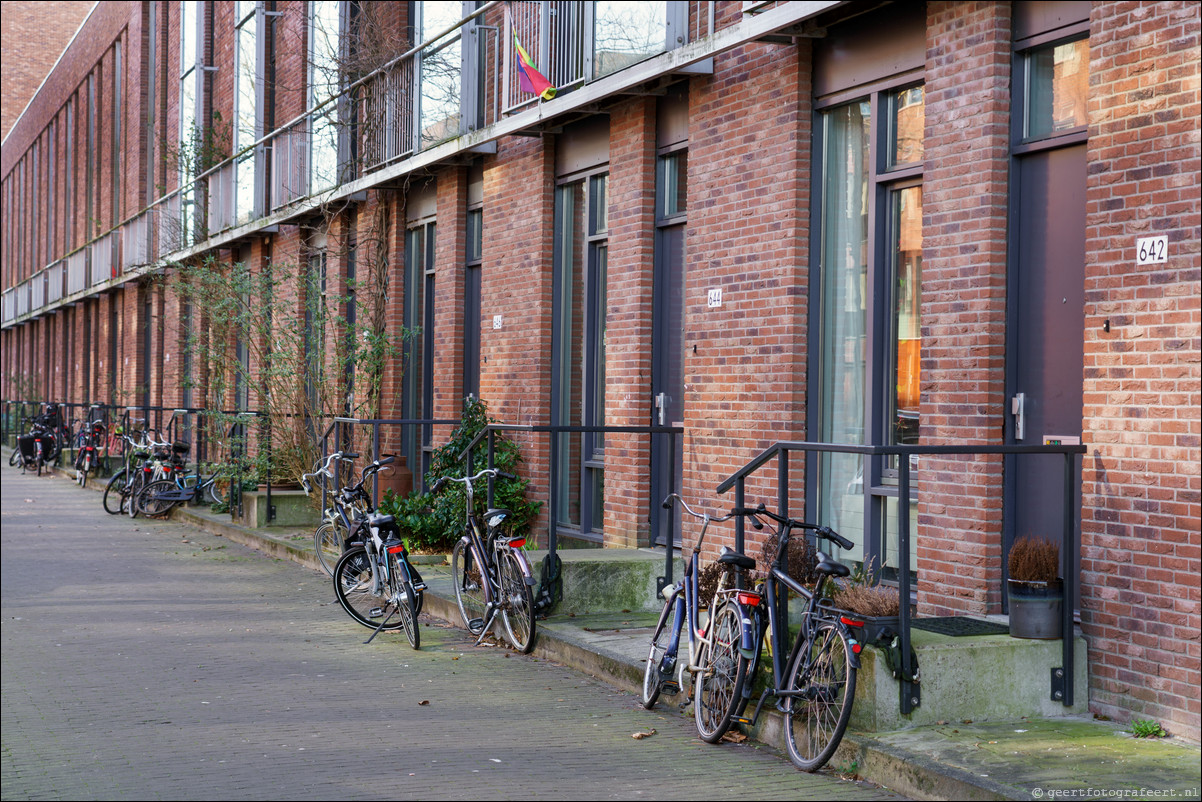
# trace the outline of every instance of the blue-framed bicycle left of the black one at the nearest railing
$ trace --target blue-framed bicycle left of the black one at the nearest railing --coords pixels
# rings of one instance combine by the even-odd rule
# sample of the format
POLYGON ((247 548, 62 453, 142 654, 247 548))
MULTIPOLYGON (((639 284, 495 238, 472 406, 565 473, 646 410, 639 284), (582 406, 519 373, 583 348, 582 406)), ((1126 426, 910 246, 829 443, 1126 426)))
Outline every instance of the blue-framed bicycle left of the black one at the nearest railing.
MULTIPOLYGON (((677 493, 664 499, 664 507, 671 510, 673 501, 679 501, 685 512, 702 522, 701 535, 692 547, 689 568, 684 577, 674 586, 664 589, 664 610, 651 635, 650 652, 643 669, 643 707, 651 709, 660 694, 676 695, 684 689, 685 676, 698 678, 697 694, 694 699, 694 717, 697 732, 702 739, 716 743, 730 729, 730 715, 737 705, 737 697, 728 691, 730 682, 719 682, 732 670, 739 669, 737 649, 731 649, 734 642, 732 632, 738 631, 738 623, 719 612, 720 600, 728 593, 726 572, 719 578, 713 600, 709 604, 710 617, 707 625, 701 624, 700 576, 701 546, 710 523, 721 523, 740 515, 732 510, 725 516, 714 517, 708 512, 696 512, 677 493), (680 631, 688 623, 689 655, 680 660, 680 631), (706 666, 710 667, 706 672, 706 666)), ((757 528, 762 527, 754 522, 757 528)), ((724 547, 718 562, 722 565, 750 569, 755 560, 742 557, 724 547)))

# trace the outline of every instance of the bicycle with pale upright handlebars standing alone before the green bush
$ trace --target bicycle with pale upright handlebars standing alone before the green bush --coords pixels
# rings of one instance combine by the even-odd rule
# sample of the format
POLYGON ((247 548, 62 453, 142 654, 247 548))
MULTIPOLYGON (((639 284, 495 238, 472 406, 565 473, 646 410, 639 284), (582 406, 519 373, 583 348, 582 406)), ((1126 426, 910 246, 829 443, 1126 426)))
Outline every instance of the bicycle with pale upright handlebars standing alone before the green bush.
POLYGON ((517 479, 486 468, 475 476, 444 476, 430 488, 430 493, 438 493, 444 483, 458 482, 468 497, 464 535, 451 551, 456 605, 468 631, 478 636, 477 646, 500 616, 513 648, 529 654, 535 636, 535 580, 522 551, 526 539, 502 531, 511 515, 508 510, 487 510, 483 521, 476 515, 472 482, 483 477, 517 479))

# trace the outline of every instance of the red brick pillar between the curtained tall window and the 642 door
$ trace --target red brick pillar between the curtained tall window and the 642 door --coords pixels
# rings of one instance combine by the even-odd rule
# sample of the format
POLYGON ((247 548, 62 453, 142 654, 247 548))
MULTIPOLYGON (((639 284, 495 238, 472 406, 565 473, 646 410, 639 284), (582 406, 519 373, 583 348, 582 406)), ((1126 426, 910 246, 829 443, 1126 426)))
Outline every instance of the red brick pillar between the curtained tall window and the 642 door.
MULTIPOLYGON (((1010 155, 1010 7, 927 4, 924 444, 1001 442, 1010 155)), ((1001 461, 923 457, 918 610, 999 612, 1001 461)))

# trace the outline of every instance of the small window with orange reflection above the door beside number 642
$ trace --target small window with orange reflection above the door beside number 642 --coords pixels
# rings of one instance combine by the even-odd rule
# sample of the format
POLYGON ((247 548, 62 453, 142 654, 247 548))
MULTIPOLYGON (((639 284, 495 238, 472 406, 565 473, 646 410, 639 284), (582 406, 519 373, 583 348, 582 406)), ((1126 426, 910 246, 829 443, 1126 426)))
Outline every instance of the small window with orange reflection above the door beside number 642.
POLYGON ((1082 127, 1088 121, 1089 40, 1049 44, 1027 54, 1024 138, 1082 127))

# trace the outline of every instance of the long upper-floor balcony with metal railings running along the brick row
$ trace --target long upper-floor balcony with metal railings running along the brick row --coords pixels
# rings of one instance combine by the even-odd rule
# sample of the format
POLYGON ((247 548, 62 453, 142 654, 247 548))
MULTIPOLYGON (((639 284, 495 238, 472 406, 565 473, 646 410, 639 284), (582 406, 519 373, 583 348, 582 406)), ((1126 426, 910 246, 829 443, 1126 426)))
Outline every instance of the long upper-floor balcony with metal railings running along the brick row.
MULTIPOLYGON (((67 256, 64 303, 106 283, 313 214, 505 136, 537 133, 672 73, 707 72, 714 55, 799 31, 838 0, 779 4, 721 30, 708 4, 500 0, 432 32, 395 59, 67 256), (514 38, 543 72, 553 100, 522 89, 514 38), (338 120, 343 120, 339 123, 338 120)), ((779 38, 779 37, 778 37, 779 38)), ((12 292, 12 291, 10 291, 12 292)), ((6 295, 20 322, 30 308, 6 295)))

